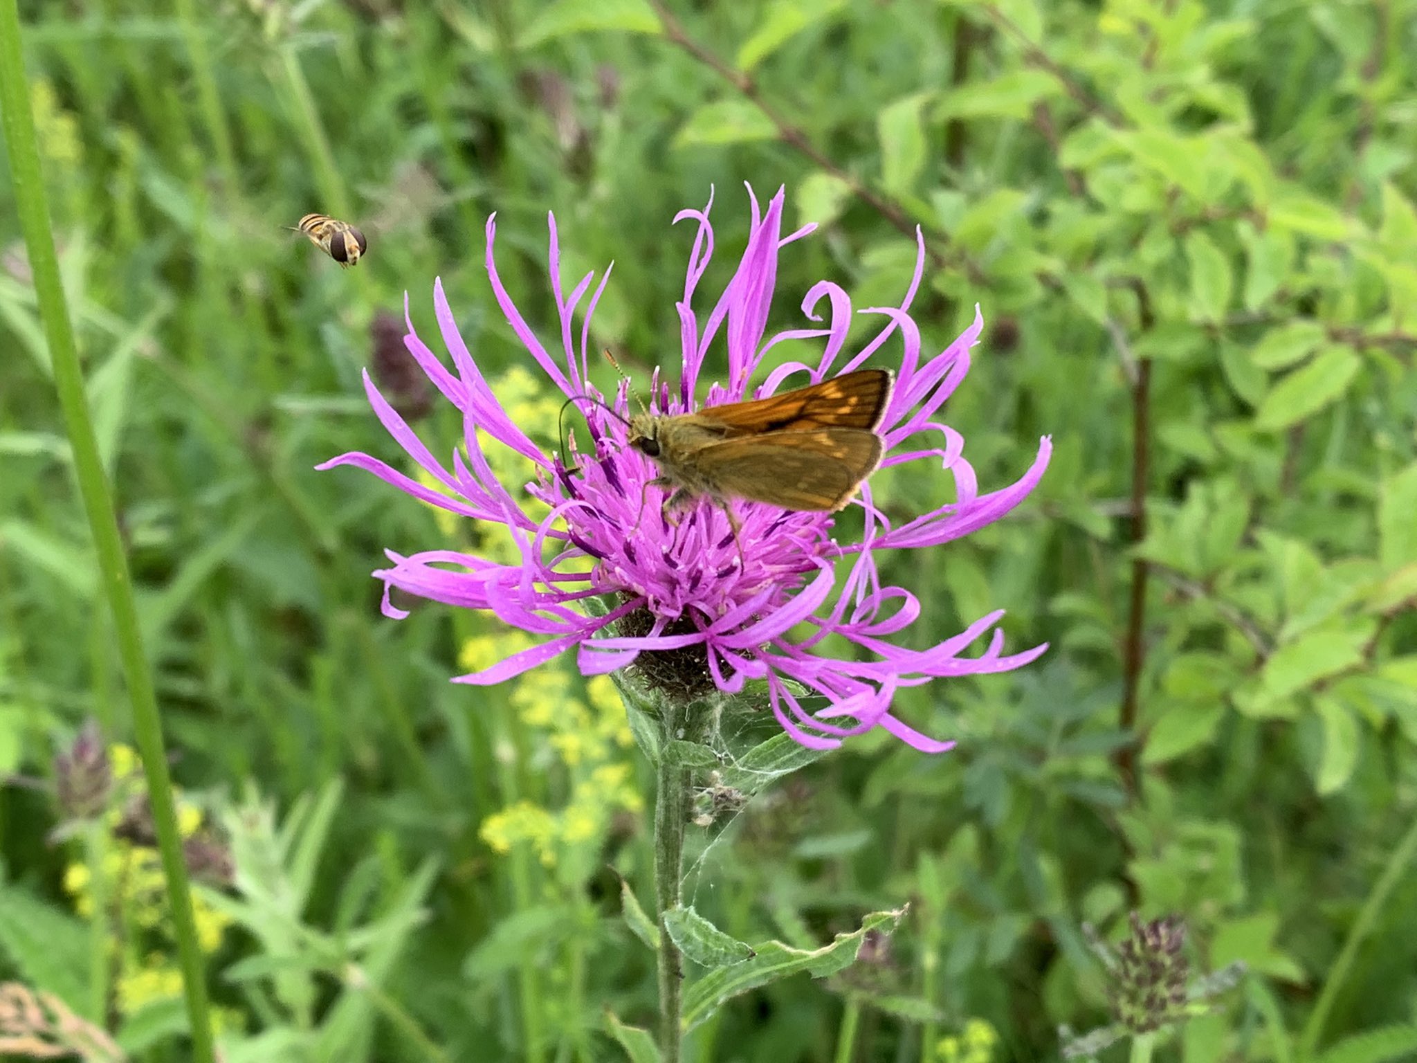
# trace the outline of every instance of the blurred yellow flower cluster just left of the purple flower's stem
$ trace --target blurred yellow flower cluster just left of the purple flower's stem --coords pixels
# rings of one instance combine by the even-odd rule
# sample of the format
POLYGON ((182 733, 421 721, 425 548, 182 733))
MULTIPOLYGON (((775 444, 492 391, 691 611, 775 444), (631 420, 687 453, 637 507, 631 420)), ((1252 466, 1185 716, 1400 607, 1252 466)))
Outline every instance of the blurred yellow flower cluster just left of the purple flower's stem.
MULTIPOLYGON (((463 668, 486 668, 533 645, 523 632, 480 635, 459 655, 463 668)), ((616 811, 638 812, 643 799, 633 787, 626 753, 633 744, 625 707, 615 685, 605 676, 585 683, 584 697, 560 662, 527 672, 512 687, 513 712, 531 731, 544 736, 570 774, 571 794, 560 809, 519 801, 482 825, 482 839, 495 852, 510 852, 519 842, 531 845, 541 863, 555 866, 565 850, 598 845, 616 811)))

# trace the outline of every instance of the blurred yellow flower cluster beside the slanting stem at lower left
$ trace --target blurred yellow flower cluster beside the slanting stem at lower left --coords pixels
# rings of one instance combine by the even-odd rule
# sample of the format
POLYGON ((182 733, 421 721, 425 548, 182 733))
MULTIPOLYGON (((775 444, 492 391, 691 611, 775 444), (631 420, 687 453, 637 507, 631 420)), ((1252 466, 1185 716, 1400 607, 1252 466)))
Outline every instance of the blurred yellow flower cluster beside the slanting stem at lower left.
MULTIPOLYGON (((129 792, 142 784, 137 754, 132 747, 109 747, 116 785, 128 784, 129 792)), ((125 809, 112 808, 105 815, 108 842, 103 850, 103 894, 119 916, 111 924, 109 948, 115 954, 115 994, 119 1012, 132 1015, 139 1008, 181 996, 181 971, 176 962, 176 941, 167 906, 167 884, 162 859, 152 845, 142 845, 118 833, 125 809), (153 945, 157 945, 153 948, 153 945)), ((177 794, 177 829, 183 839, 194 838, 203 826, 201 809, 177 794)), ((64 889, 74 897, 81 916, 94 916, 94 869, 71 863, 64 872, 64 889)), ((194 893, 193 917, 197 944, 207 955, 221 948, 231 918, 194 893)))

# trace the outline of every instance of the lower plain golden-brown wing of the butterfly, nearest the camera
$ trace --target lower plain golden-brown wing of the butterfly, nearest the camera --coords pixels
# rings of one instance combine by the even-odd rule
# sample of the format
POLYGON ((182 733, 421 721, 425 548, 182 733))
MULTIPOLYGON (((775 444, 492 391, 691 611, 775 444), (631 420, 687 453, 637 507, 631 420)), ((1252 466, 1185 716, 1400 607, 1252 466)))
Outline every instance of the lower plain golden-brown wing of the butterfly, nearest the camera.
POLYGON ((813 428, 723 439, 694 458, 724 497, 835 512, 874 472, 884 446, 864 428, 813 428))

